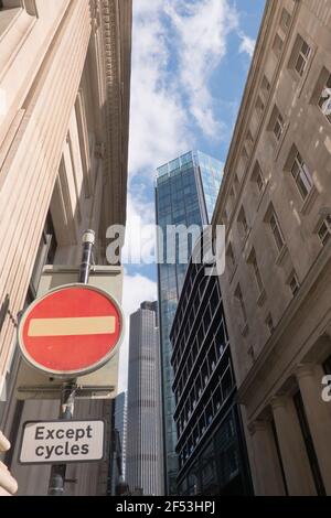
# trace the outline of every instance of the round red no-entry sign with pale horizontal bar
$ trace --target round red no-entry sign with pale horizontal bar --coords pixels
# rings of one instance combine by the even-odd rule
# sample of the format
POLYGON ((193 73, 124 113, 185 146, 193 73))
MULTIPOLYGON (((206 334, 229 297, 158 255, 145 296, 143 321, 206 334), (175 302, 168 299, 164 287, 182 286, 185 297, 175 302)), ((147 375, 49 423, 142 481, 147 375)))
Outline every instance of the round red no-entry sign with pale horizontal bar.
POLYGON ((118 303, 92 285, 56 288, 35 300, 19 327, 23 356, 55 376, 87 374, 115 353, 124 331, 118 303))

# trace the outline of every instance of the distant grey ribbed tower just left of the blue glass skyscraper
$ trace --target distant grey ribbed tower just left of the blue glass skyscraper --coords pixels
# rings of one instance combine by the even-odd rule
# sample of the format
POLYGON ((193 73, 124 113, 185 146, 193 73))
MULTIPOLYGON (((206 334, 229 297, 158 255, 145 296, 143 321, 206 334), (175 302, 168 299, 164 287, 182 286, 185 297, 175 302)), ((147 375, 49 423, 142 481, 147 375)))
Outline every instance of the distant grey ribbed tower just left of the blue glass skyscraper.
POLYGON ((157 302, 130 315, 126 482, 132 494, 163 495, 157 302))

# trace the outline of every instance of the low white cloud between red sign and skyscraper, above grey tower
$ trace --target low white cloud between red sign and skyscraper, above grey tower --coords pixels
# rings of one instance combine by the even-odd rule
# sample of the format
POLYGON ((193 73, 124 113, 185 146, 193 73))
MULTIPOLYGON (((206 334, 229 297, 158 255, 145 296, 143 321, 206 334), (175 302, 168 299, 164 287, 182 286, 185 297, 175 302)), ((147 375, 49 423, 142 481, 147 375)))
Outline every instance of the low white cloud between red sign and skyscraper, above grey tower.
POLYGON ((142 301, 157 300, 157 283, 147 277, 135 274, 124 277, 122 306, 126 316, 126 335, 119 355, 118 392, 126 390, 128 378, 130 314, 137 311, 142 301))

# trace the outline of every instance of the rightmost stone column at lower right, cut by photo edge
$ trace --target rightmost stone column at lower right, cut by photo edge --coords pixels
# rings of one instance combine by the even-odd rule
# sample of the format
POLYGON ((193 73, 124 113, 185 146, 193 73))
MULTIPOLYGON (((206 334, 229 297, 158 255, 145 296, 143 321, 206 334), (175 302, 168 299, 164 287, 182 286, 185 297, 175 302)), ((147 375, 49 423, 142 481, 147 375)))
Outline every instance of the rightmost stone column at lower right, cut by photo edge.
POLYGON ((331 402, 321 397, 324 371, 320 365, 307 364, 296 375, 325 492, 331 495, 331 402))

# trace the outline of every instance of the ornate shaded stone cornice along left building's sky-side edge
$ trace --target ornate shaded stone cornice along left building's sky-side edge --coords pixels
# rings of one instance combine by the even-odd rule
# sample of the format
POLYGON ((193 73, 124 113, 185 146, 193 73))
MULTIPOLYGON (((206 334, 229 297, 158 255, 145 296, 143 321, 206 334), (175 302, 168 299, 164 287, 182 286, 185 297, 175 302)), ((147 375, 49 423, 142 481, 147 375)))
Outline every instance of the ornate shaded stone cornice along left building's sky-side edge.
POLYGON ((102 233, 125 224, 130 106, 131 0, 98 0, 105 73, 105 174, 102 233))

